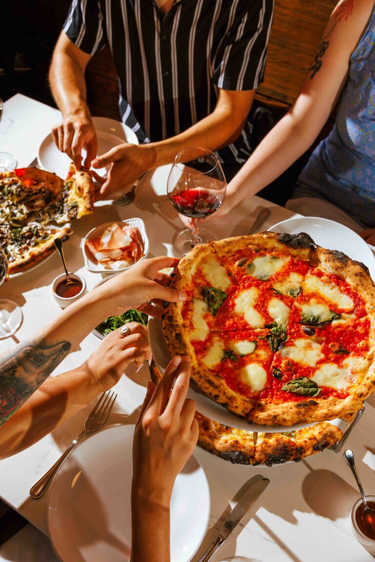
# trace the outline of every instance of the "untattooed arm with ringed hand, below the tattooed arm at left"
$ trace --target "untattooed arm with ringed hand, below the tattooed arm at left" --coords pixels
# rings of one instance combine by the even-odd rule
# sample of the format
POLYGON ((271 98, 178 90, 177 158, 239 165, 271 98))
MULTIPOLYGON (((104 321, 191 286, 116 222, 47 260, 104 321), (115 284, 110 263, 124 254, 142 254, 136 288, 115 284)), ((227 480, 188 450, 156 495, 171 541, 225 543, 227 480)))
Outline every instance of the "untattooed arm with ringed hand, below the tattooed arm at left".
POLYGON ((114 386, 132 361, 143 362, 150 353, 147 328, 131 322, 130 335, 120 329, 106 336, 80 367, 52 377, 34 392, 10 420, 0 427, 0 458, 33 445, 70 418, 98 393, 114 386))

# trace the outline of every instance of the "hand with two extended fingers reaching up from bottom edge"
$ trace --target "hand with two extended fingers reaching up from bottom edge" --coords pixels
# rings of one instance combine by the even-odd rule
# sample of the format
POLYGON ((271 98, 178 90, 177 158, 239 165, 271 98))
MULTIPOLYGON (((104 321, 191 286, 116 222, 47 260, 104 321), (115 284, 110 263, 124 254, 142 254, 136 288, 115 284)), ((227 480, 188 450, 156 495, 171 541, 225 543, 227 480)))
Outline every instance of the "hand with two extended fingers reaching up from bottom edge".
POLYGON ((133 441, 133 501, 146 498, 169 508, 175 478, 198 439, 195 402, 186 398, 190 371, 189 357, 177 356, 156 388, 147 385, 133 441))

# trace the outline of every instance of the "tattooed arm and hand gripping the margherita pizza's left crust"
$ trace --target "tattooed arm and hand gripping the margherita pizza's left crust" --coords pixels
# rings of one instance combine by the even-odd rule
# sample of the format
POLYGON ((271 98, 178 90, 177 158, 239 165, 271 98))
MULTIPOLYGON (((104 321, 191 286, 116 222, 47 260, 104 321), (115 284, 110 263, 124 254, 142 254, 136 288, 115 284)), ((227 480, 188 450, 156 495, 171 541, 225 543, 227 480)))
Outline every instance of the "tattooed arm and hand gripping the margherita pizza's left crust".
MULTIPOLYGON (((67 353, 107 318, 130 308, 150 311, 152 299, 178 301, 185 293, 164 286, 158 273, 176 265, 168 257, 144 260, 73 303, 31 340, 0 356, 0 425, 5 423, 47 379, 67 353), (143 303, 146 303, 143 304, 143 303)), ((155 307, 152 309, 155 314, 155 307)))

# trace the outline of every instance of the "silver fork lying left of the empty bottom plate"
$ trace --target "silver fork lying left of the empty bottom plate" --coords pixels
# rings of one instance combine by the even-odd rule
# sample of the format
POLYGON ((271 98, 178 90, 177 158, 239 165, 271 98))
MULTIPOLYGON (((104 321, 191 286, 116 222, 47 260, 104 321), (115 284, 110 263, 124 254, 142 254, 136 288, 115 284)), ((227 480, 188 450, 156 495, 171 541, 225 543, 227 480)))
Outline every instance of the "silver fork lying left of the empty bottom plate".
POLYGON ((30 496, 34 498, 34 500, 38 500, 39 497, 42 497, 48 483, 51 481, 53 475, 55 474, 56 470, 64 463, 66 457, 69 453, 73 450, 76 444, 88 433, 92 433, 97 429, 100 429, 103 424, 105 424, 110 412, 112 410, 113 405, 115 404, 115 400, 117 395, 114 391, 110 393, 103 392, 102 396, 99 398, 96 405, 93 407, 92 411, 89 413, 83 431, 70 443, 69 447, 66 451, 61 455, 60 459, 56 461, 56 463, 51 466, 51 468, 38 480, 34 486, 30 488, 30 496))

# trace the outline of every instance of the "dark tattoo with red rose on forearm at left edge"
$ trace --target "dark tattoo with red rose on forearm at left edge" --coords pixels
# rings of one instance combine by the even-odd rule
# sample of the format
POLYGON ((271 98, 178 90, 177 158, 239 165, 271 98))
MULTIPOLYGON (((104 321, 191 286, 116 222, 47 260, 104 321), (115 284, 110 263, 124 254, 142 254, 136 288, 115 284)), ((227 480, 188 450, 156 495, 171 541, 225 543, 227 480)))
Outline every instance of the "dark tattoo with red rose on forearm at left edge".
POLYGON ((5 423, 46 380, 70 350, 63 341, 47 346, 21 343, 2 358, 0 365, 0 425, 5 423))

